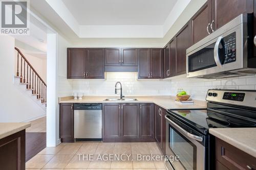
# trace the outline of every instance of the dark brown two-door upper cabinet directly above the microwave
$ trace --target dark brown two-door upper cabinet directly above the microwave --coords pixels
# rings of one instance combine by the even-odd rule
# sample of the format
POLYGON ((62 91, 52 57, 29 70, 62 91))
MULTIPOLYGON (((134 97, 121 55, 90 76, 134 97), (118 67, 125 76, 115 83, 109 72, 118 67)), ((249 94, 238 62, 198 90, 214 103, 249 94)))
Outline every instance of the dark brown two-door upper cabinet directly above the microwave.
POLYGON ((208 0, 190 19, 195 44, 242 13, 253 12, 253 0, 208 0))

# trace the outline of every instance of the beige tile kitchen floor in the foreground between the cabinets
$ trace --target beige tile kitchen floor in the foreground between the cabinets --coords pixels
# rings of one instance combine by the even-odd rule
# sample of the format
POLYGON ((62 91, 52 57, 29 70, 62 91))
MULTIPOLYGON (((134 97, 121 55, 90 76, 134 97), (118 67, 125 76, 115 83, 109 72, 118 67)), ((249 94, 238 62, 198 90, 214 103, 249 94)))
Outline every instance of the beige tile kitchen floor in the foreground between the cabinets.
POLYGON ((138 160, 142 156, 159 155, 161 152, 155 142, 76 142, 61 143, 57 147, 45 148, 26 163, 26 170, 34 169, 62 169, 62 170, 93 170, 93 169, 136 169, 136 170, 164 170, 163 160, 138 160), (82 159, 91 156, 91 160, 82 159), (91 154, 91 155, 87 155, 91 154), (101 160, 123 155, 123 160, 101 160), (130 157, 129 157, 130 156, 130 157), (101 158, 101 159, 100 159, 101 158))

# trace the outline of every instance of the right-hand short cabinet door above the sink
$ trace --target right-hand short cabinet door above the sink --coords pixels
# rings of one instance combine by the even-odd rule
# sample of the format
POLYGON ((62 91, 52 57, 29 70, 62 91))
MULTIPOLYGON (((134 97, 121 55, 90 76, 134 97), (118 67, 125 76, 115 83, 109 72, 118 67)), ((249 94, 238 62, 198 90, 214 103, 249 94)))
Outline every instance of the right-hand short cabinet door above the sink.
POLYGON ((127 66, 137 66, 137 49, 136 48, 122 48, 121 50, 121 64, 127 66))

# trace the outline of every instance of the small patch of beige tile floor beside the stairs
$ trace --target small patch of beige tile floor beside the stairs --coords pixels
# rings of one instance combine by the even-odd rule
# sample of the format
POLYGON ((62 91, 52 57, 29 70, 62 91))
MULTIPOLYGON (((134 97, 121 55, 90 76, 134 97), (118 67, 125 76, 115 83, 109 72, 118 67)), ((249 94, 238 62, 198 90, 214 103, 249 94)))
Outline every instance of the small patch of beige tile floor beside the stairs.
POLYGON ((35 119, 30 122, 31 127, 26 129, 26 132, 46 132, 46 116, 35 119))

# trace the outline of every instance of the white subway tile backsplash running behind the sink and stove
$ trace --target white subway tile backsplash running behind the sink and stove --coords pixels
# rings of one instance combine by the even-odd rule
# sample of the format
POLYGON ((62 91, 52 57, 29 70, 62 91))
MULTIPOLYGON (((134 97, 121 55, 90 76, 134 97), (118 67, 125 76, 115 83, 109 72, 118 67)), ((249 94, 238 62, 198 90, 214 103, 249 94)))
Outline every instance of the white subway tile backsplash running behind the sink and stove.
POLYGON ((105 80, 67 80, 58 77, 58 95, 72 95, 82 92, 84 95, 115 94, 115 83, 120 81, 123 95, 176 95, 178 89, 184 89, 191 98, 205 100, 208 89, 256 89, 256 77, 246 76, 233 79, 174 79, 174 80, 138 80, 136 72, 107 72, 105 80))

